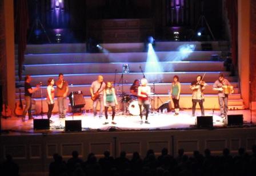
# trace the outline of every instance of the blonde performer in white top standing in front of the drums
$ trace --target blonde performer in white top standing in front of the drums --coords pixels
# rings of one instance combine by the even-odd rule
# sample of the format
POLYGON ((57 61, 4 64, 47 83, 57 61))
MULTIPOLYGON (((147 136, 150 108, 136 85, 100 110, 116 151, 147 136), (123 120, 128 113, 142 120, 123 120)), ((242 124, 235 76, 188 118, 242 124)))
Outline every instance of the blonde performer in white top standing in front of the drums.
POLYGON ((149 121, 147 121, 147 117, 149 116, 149 95, 150 95, 151 88, 147 85, 147 79, 142 78, 141 79, 141 85, 138 87, 138 103, 139 103, 139 110, 140 110, 140 116, 142 120, 142 105, 146 109, 146 121, 145 124, 150 124, 149 121))

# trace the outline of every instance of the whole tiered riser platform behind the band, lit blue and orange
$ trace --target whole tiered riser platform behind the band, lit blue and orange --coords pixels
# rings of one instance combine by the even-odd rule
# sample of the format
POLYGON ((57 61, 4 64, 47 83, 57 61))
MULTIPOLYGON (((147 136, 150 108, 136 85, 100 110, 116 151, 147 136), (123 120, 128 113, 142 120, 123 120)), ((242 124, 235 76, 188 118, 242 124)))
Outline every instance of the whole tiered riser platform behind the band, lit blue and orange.
MULTIPOLYGON (((208 84, 205 89, 205 108, 218 109, 218 98, 212 90, 212 85, 222 72, 234 86, 235 92, 229 96, 229 109, 244 109, 239 85, 236 76, 230 76, 225 71, 223 61, 211 61, 212 55, 222 56, 229 51, 227 42, 211 42, 212 51, 202 51, 203 42, 157 42, 155 54, 158 57, 161 72, 145 72, 149 80, 151 91, 151 105, 158 109, 166 101, 169 101, 168 90, 173 76, 178 75, 182 84, 180 105, 182 108, 191 108, 191 91, 189 85, 197 75, 206 73, 204 80, 208 84), (181 47, 190 47, 194 51, 181 52, 181 47)), ((92 108, 90 100, 90 85, 103 75, 105 81, 115 81, 117 94, 129 93, 130 85, 135 79, 143 77, 147 64, 147 52, 144 52, 143 43, 118 43, 101 44, 105 52, 87 53, 86 44, 42 44, 27 46, 23 75, 30 74, 33 77, 32 85, 43 83, 43 112, 47 112, 46 82, 49 77, 58 79, 58 73, 65 74, 65 80, 70 84, 70 91, 82 91, 86 100, 85 109, 92 108), (130 72, 122 76, 123 64, 129 64, 130 72), (117 70, 116 79, 115 70, 117 70), (123 84, 122 84, 123 83, 123 84)), ((153 64, 154 67, 154 64, 153 64)), ((149 67, 147 67, 149 69, 149 67)), ((18 77, 17 77, 18 82, 18 77)), ((18 84, 23 84, 23 81, 18 84)), ((21 88, 23 92, 23 88, 21 88)), ((18 99, 18 89, 16 98, 18 99)), ((22 95, 23 97, 23 95, 22 95)), ((34 93, 36 101, 36 113, 41 112, 41 91, 34 93)), ((119 97, 121 100, 122 97, 119 97)), ((57 104, 54 112, 57 112, 57 104)))

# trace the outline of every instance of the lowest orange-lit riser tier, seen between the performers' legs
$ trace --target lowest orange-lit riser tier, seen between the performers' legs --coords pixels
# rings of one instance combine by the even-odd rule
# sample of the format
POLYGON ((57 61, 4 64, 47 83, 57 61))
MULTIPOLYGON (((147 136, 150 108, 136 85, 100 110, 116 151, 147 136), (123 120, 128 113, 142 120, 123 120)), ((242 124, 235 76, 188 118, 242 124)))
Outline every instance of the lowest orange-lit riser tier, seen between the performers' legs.
MULTIPOLYGON (((85 96, 84 97, 86 105, 85 109, 93 109, 93 101, 90 99, 90 97, 85 96)), ((35 104, 35 110, 39 114, 41 113, 41 99, 35 99, 36 104, 35 104)), ((166 103, 170 101, 168 96, 159 96, 158 98, 155 97, 155 103, 152 100, 151 101, 151 106, 155 105, 155 109, 159 108, 163 103, 166 103)), ((67 103, 69 104, 69 100, 67 99, 67 103)), ((173 102, 171 101, 172 107, 173 102)), ((129 107, 129 103, 126 104, 127 107, 129 107)), ((179 100, 179 105, 180 108, 182 109, 191 109, 192 107, 192 101, 191 101, 191 96, 181 96, 181 99, 179 100)), ((219 109, 219 103, 218 103, 218 97, 207 97, 205 98, 205 102, 203 103, 203 106, 205 109, 219 109)), ((117 105, 118 108, 118 105, 117 105)), ((243 100, 235 100, 231 101, 229 100, 229 109, 242 109, 243 107, 243 100)), ((99 103, 97 109, 99 110, 99 103)), ((199 109, 199 105, 197 104, 197 109, 199 109)), ((46 103, 46 100, 43 99, 43 112, 47 112, 48 106, 46 103)), ((54 104, 54 109, 53 112, 58 112, 58 103, 57 99, 55 99, 55 104, 54 104)))

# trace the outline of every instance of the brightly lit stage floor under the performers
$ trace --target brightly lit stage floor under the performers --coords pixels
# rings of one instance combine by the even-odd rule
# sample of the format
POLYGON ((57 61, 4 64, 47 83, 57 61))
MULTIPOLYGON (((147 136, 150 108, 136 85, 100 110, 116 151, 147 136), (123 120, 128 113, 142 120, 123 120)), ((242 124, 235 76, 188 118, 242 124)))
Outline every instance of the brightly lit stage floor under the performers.
MULTIPOLYGON (((226 127, 223 118, 219 116, 219 110, 205 110, 205 116, 213 116, 213 126, 214 128, 226 127)), ((250 124, 251 117, 252 122, 256 122, 255 111, 250 114, 250 110, 229 110, 229 114, 243 114, 244 126, 250 124)), ((59 118, 58 114, 53 114, 51 120, 53 123, 50 124, 49 130, 34 130, 33 120, 22 121, 21 117, 11 117, 2 118, 2 130, 8 130, 15 133, 59 133, 65 132, 65 120, 81 120, 82 121, 82 131, 86 132, 97 132, 97 131, 108 131, 110 127, 115 128, 115 130, 177 130, 177 129, 195 129, 196 117, 200 116, 201 112, 199 109, 196 110, 195 117, 191 116, 191 109, 181 110, 178 116, 174 116, 173 112, 159 113, 153 112, 149 114, 150 124, 145 124, 145 116, 143 116, 142 121, 139 116, 133 116, 130 114, 122 114, 122 112, 117 112, 114 121, 117 123, 115 125, 111 124, 111 112, 109 112, 108 122, 109 124, 104 125, 105 116, 96 117, 93 116, 92 112, 85 113, 67 113, 66 118, 59 118)), ((47 118, 46 114, 42 116, 34 116, 35 119, 47 118)))

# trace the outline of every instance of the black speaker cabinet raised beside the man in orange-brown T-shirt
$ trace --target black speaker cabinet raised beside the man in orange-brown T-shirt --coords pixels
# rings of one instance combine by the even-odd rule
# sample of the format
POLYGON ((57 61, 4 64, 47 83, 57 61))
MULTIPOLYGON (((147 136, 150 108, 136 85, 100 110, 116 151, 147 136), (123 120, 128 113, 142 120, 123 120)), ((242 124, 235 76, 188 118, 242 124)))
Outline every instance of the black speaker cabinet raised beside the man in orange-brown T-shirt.
POLYGON ((85 99, 83 99, 82 91, 71 92, 69 94, 69 100, 72 108, 85 107, 85 99))

